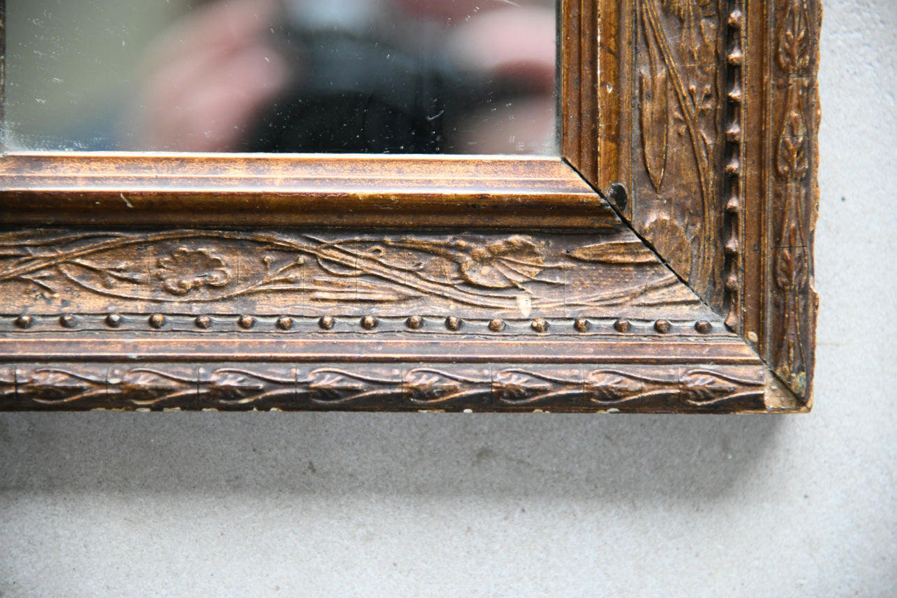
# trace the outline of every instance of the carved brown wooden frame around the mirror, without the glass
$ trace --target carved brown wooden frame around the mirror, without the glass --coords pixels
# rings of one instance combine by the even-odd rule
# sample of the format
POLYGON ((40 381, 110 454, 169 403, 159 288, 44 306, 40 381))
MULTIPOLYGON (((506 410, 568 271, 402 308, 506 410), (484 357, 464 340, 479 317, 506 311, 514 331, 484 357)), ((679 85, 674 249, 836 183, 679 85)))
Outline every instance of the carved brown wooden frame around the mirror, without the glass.
POLYGON ((563 0, 560 159, 6 153, 0 409, 801 412, 818 0, 563 0))

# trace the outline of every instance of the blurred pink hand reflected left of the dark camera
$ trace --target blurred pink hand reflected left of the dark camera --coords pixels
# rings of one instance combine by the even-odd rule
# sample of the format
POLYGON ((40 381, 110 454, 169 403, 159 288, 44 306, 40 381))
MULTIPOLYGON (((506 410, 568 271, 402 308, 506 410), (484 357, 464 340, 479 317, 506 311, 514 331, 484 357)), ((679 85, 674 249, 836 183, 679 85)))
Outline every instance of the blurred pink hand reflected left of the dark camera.
POLYGON ((275 10, 274 0, 213 3, 159 39, 146 61, 131 144, 155 151, 236 149, 257 111, 292 76, 266 39, 275 10))

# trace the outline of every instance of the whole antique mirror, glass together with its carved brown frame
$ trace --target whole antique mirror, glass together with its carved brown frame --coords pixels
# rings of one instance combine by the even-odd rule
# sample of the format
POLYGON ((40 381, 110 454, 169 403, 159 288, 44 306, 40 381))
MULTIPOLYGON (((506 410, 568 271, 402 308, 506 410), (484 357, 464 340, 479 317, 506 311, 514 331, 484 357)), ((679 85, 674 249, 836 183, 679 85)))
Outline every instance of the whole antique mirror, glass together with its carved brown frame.
POLYGON ((6 0, 0 409, 809 410, 818 0, 558 1, 6 0))

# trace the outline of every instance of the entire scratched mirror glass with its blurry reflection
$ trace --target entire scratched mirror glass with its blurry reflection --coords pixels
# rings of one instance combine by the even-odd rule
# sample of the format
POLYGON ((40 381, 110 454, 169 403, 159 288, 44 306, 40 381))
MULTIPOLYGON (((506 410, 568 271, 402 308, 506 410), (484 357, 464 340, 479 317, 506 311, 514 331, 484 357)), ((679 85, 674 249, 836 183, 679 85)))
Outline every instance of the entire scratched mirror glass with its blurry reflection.
POLYGON ((7 151, 557 152, 556 0, 6 0, 7 151))

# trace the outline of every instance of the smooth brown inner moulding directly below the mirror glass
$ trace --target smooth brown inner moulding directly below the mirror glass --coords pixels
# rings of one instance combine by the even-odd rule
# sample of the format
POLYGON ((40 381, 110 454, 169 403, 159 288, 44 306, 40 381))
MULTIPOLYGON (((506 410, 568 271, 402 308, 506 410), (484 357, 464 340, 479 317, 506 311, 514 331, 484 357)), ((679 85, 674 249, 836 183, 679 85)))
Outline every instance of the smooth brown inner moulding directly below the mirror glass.
POLYGON ((43 154, 0 160, 3 223, 603 229, 558 159, 43 154))

